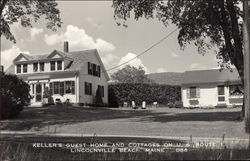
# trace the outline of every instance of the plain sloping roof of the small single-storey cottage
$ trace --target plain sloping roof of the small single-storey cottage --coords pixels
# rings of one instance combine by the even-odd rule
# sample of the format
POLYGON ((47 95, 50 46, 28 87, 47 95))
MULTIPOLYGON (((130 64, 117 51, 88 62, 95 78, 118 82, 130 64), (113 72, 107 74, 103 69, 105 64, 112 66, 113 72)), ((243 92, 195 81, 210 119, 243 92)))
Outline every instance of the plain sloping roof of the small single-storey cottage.
POLYGON ((209 84, 209 83, 241 83, 236 69, 211 69, 186 71, 183 75, 182 85, 209 84))

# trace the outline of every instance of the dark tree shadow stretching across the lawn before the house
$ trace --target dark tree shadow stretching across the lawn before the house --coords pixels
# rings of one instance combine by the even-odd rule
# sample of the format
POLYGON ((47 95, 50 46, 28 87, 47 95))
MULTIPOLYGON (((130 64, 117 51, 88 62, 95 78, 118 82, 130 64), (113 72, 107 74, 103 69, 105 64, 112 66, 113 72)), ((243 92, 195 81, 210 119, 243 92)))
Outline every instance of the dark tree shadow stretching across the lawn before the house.
MULTIPOLYGON (((167 111, 167 110, 166 110, 167 111)), ((192 112, 170 113, 157 110, 121 110, 114 108, 76 108, 63 106, 28 107, 19 118, 0 122, 1 130, 30 130, 50 125, 65 125, 81 122, 132 119, 136 122, 173 121, 236 121, 240 112, 192 112)))

